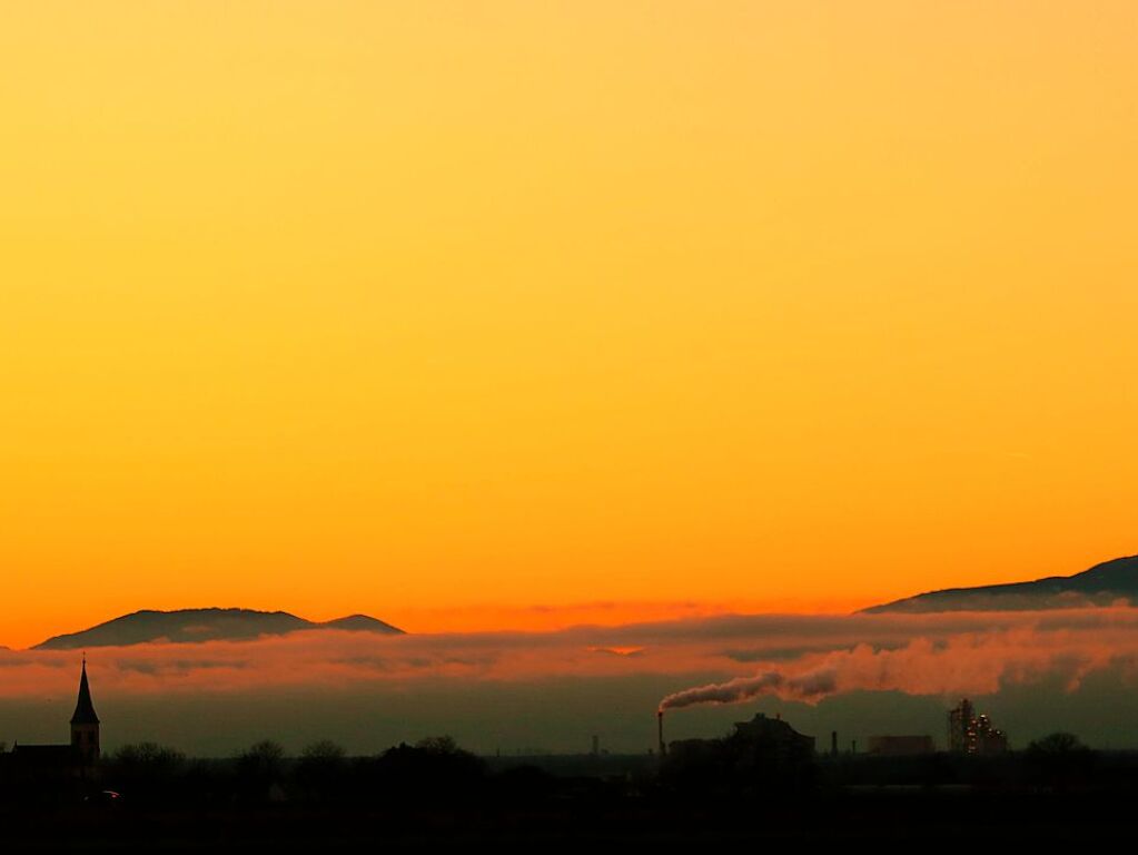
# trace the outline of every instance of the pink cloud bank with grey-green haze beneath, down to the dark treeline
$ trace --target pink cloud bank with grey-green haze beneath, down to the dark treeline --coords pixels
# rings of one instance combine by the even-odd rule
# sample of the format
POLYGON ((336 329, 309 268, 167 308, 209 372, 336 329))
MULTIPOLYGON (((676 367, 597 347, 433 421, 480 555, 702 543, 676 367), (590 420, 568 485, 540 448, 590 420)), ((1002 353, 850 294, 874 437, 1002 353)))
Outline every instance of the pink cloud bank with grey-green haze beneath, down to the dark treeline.
MULTIPOLYGON (((80 651, 0 650, 0 739, 59 741, 80 651)), ((1013 743, 1057 729, 1138 747, 1138 609, 945 615, 751 615, 558 632, 255 641, 88 651, 108 750, 151 739, 224 755, 264 738, 349 751, 451 733, 475 750, 613 750, 716 735, 752 710, 806 733, 938 734, 960 696, 1013 743)))

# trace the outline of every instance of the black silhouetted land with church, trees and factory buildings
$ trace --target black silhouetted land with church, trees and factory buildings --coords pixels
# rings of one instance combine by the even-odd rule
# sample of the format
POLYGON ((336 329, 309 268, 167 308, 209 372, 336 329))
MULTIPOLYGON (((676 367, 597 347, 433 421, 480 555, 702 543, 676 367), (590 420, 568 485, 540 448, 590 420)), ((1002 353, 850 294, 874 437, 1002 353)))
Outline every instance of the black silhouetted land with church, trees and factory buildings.
POLYGON ((349 756, 330 739, 290 756, 266 739, 230 757, 193 758, 154 742, 104 755, 96 689, 84 661, 69 739, 17 740, 0 753, 0 816, 14 842, 141 846, 158 835, 173 846, 267 839, 286 850, 362 839, 552 846, 648 842, 661 830, 682 842, 778 839, 786 822, 800 837, 856 839, 880 835, 876 823, 887 821, 890 836, 925 838, 945 832, 946 812, 959 839, 981 829, 1085 832, 1087 822, 1098 823, 1094 837, 1120 831, 1107 806, 1138 795, 1138 751, 1094 751, 1067 732, 1012 750, 968 699, 946 710, 941 746, 912 733, 864 746, 836 731, 819 740, 761 712, 725 734, 669 741, 661 708, 659 742, 638 755, 610 753, 594 735, 576 755, 479 756, 435 735, 371 756, 349 756), (1039 821, 1039 811, 1058 806, 1039 821))

